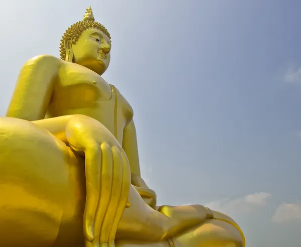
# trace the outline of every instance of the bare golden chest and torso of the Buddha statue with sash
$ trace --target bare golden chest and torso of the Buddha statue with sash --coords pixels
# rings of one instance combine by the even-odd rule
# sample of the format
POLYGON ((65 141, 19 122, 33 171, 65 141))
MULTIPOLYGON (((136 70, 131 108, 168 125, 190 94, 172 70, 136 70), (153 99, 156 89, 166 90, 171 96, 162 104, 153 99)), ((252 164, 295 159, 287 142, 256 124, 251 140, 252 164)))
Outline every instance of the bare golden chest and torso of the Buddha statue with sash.
POLYGON ((94 71, 62 61, 46 117, 84 114, 100 121, 122 145, 132 119, 130 104, 94 71))

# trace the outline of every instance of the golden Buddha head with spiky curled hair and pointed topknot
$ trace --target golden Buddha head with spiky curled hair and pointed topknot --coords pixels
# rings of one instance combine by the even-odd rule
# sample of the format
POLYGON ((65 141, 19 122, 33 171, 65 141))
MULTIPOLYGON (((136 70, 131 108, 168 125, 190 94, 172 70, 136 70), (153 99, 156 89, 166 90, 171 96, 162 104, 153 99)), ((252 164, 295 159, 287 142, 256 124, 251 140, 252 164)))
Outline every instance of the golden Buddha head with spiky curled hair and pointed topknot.
POLYGON ((61 59, 85 66, 99 75, 110 63, 110 34, 104 26, 95 22, 89 8, 81 22, 73 24, 61 39, 61 59))

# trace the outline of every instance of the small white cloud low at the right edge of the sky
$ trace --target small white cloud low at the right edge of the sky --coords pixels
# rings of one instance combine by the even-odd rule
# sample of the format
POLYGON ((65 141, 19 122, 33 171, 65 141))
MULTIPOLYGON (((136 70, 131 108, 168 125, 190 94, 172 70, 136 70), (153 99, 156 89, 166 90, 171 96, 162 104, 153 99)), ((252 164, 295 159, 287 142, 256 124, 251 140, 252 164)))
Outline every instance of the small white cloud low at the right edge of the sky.
POLYGON ((301 203, 282 203, 272 217, 274 222, 301 220, 301 203))

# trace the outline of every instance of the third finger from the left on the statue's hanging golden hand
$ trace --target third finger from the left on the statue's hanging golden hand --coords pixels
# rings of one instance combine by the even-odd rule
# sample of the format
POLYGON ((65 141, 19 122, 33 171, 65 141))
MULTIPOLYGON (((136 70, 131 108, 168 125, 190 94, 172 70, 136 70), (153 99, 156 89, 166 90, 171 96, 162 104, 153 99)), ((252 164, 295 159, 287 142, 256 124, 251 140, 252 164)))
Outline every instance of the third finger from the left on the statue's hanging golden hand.
MULTIPOLYGON (((112 177, 112 190, 111 198, 106 210, 103 224, 101 226, 101 234, 99 243, 108 242, 109 235, 113 226, 115 214, 119 206, 121 185, 122 185, 122 157, 119 152, 119 149, 116 146, 112 147, 113 154, 113 177, 112 177)), ((125 205, 123 205, 125 207, 125 205)))

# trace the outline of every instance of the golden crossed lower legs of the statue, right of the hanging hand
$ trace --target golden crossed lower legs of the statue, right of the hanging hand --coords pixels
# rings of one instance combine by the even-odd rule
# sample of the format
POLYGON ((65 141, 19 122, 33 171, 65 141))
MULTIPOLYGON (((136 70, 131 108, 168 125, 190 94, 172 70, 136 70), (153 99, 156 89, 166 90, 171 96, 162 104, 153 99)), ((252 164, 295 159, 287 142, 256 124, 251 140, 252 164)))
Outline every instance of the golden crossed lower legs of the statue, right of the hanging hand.
POLYGON ((243 236, 237 227, 233 226, 237 224, 227 215, 208 210, 201 205, 163 206, 160 213, 147 205, 140 204, 135 194, 135 191, 129 193, 129 202, 133 206, 125 209, 121 218, 117 239, 120 238, 122 241, 117 241, 117 246, 169 246, 166 245, 167 241, 160 239, 162 232, 165 234, 165 239, 174 237, 176 247, 243 246, 243 236), (136 202, 133 203, 133 200, 136 202), (219 220, 206 219, 206 217, 215 217, 219 220), (147 224, 143 224, 145 222, 147 224), (129 240, 124 241, 125 238, 129 240), (140 240, 140 242, 130 239, 140 240))

